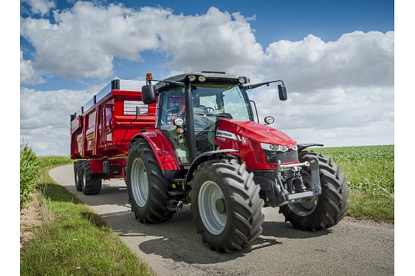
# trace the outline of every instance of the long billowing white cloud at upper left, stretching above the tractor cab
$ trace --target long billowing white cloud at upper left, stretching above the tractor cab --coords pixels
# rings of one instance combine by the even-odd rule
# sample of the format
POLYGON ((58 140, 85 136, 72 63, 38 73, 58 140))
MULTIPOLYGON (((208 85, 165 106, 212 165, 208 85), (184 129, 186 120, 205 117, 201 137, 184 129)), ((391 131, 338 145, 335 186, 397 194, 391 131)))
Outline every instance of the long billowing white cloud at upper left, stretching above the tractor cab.
POLYGON ((20 31, 36 49, 34 67, 68 79, 103 79, 112 74, 114 57, 142 61, 145 50, 165 55, 170 66, 199 70, 250 66, 263 56, 248 19, 214 7, 185 17, 163 8, 77 1, 53 16, 56 23, 21 18, 20 31))

